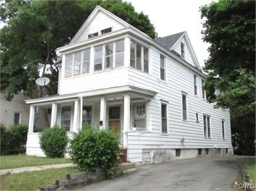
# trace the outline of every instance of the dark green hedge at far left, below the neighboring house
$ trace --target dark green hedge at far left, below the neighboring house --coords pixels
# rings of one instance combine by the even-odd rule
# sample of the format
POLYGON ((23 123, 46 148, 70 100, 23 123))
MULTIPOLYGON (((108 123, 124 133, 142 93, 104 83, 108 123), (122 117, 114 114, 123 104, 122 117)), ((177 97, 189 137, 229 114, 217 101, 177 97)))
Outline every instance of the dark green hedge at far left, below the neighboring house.
POLYGON ((26 151, 26 138, 28 126, 16 124, 6 128, 0 124, 1 133, 1 155, 18 155, 26 151))

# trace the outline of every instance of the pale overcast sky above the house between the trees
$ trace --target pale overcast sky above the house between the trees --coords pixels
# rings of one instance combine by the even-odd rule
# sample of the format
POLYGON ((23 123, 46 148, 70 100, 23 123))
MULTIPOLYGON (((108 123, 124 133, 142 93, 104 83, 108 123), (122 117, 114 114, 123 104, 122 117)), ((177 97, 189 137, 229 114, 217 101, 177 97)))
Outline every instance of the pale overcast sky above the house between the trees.
POLYGON ((202 41, 199 7, 212 0, 126 0, 137 12, 143 11, 154 25, 158 37, 187 31, 199 64, 209 57, 208 43, 202 41))

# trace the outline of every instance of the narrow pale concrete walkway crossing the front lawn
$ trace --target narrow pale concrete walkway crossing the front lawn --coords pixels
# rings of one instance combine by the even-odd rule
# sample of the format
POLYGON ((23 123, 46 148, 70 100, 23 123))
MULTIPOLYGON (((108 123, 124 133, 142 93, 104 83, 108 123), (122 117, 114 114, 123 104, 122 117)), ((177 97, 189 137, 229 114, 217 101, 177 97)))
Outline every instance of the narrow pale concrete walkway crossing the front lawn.
POLYGON ((10 173, 21 173, 25 171, 39 171, 39 170, 45 170, 49 168, 64 168, 74 166, 73 163, 63 163, 63 164, 54 164, 54 165, 42 165, 42 166, 26 166, 21 168, 8 168, 0 170, 0 175, 4 175, 8 172, 10 173))

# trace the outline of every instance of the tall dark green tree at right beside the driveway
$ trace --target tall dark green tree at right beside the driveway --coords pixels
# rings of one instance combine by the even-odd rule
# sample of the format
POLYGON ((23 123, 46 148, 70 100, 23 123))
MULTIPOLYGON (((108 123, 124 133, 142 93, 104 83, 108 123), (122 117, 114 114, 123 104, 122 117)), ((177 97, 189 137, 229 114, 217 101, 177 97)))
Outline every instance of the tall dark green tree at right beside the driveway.
POLYGON ((233 146, 242 134, 242 154, 255 155, 255 1, 211 3, 202 6, 201 18, 203 40, 211 43, 204 67, 207 99, 230 109, 233 146))

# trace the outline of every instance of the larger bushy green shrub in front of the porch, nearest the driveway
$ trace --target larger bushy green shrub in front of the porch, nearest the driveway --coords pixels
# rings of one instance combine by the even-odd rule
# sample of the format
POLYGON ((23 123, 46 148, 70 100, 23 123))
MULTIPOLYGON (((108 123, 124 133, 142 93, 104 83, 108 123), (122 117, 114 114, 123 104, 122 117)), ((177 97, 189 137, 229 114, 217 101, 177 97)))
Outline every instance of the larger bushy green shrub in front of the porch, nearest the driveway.
POLYGON ((79 133, 74 134, 69 154, 79 170, 92 171, 102 168, 106 178, 113 177, 119 155, 119 136, 112 131, 84 125, 79 133))

